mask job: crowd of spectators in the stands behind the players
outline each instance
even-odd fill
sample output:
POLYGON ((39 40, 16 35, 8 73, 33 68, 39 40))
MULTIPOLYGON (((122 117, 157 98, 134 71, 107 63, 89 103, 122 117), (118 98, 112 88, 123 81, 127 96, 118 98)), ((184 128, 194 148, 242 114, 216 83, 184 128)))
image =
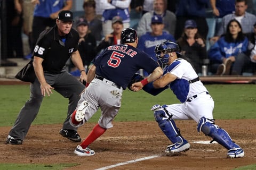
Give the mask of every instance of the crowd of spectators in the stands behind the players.
MULTIPOLYGON (((6 1, 8 57, 30 59, 39 34, 55 25, 58 12, 71 10, 73 3, 73 0, 6 1), (31 52, 26 55, 22 33, 29 40, 31 52)), ((85 70, 103 49, 120 43, 121 31, 129 28, 133 21, 132 11, 139 19, 134 28, 139 37, 138 48, 154 60, 157 60, 155 45, 171 40, 180 46, 180 52, 198 75, 202 75, 203 65, 208 66, 211 75, 255 75, 256 10, 253 4, 256 0, 84 0, 84 14, 76 16, 73 27, 80 36, 79 52, 85 70), (210 38, 206 20, 209 17, 214 18, 210 38)), ((72 63, 69 70, 79 76, 72 63)))

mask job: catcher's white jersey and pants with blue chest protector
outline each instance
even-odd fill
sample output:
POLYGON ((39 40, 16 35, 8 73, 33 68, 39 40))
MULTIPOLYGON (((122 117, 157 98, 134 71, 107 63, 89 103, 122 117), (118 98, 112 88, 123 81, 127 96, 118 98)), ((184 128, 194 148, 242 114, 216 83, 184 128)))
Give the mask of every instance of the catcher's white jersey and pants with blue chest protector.
POLYGON ((202 116, 213 118, 214 101, 190 63, 178 58, 164 68, 164 74, 177 77, 169 87, 181 104, 168 105, 166 108, 173 119, 193 119, 198 122, 202 116))

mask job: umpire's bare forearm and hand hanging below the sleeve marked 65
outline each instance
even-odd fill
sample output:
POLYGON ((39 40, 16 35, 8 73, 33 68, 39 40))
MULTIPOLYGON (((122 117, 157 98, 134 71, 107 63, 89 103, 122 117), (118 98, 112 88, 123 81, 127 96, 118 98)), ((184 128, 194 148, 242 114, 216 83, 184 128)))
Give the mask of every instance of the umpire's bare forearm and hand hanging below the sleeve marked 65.
POLYGON ((48 84, 44 78, 44 70, 43 70, 42 62, 43 62, 43 58, 34 56, 33 66, 36 73, 36 77, 41 84, 40 86, 41 94, 43 96, 45 96, 45 94, 50 96, 50 94, 52 94, 51 89, 54 89, 54 88, 51 87, 50 84, 48 84))

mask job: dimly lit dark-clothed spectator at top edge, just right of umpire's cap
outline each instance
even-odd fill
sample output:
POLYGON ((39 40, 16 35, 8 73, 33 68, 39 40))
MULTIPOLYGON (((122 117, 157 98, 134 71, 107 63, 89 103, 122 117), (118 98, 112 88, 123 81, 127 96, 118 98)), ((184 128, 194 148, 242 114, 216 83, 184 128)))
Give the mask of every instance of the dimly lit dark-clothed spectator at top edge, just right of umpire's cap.
POLYGON ((78 18, 83 17, 87 21, 91 34, 95 37, 96 41, 100 41, 102 39, 102 22, 97 18, 95 5, 94 0, 85 0, 83 4, 84 15, 78 18))

